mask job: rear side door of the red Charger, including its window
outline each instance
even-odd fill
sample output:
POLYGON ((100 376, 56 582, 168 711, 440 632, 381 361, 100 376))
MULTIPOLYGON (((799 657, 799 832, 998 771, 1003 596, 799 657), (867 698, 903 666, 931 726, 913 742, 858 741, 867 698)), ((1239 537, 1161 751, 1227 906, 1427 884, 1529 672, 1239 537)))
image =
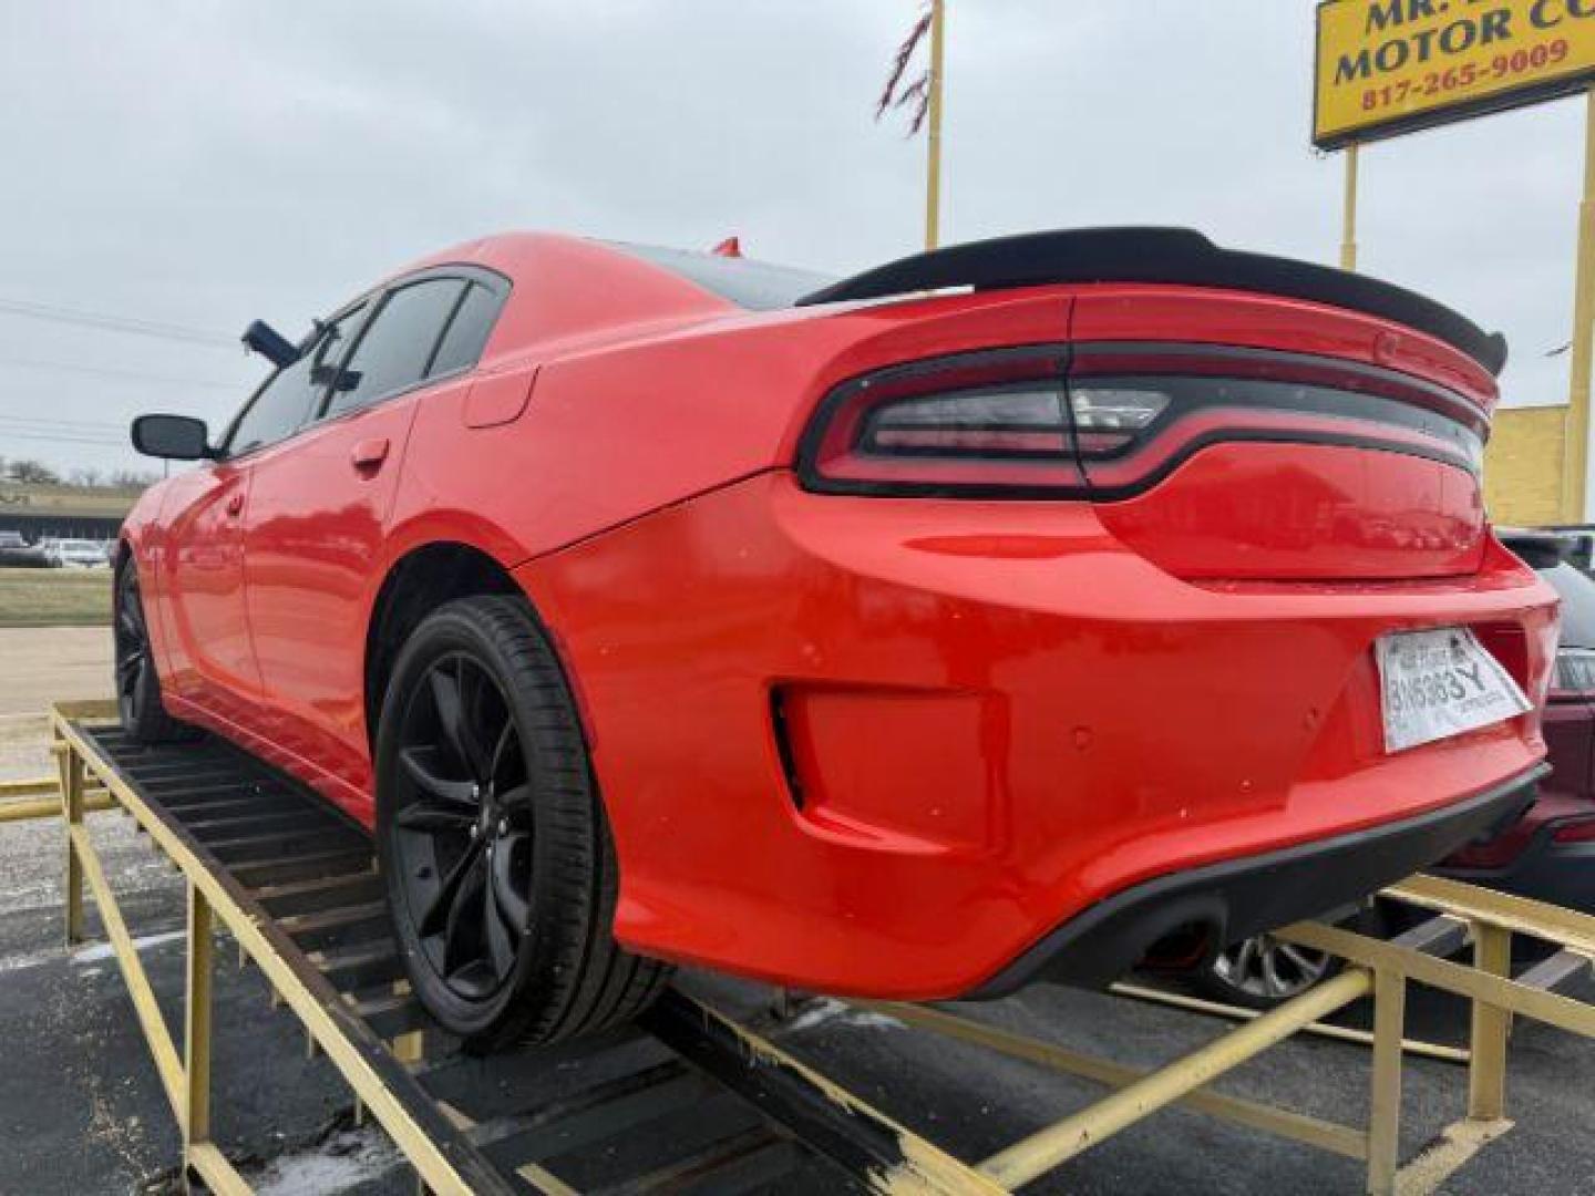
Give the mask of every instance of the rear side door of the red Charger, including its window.
POLYGON ((439 271, 388 287, 319 418, 250 482, 244 558, 270 734, 354 813, 370 791, 365 611, 416 403, 464 384, 448 380, 469 365, 443 360, 440 341, 467 287, 439 271))

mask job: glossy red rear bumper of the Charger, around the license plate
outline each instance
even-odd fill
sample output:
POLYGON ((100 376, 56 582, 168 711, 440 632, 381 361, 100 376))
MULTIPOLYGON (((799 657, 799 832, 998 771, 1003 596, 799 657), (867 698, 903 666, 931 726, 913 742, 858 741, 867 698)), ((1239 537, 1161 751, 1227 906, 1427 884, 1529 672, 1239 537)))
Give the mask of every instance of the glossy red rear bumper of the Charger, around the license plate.
MULTIPOLYGON (((1389 631, 1474 627, 1544 690, 1555 595, 1501 549, 1420 584, 1195 585, 1089 504, 770 474, 517 579, 587 719, 616 936, 817 992, 960 997, 1120 893, 1443 818, 1544 756, 1534 716, 1381 740, 1389 631)), ((1309 898, 1274 923, 1337 903, 1309 898)))

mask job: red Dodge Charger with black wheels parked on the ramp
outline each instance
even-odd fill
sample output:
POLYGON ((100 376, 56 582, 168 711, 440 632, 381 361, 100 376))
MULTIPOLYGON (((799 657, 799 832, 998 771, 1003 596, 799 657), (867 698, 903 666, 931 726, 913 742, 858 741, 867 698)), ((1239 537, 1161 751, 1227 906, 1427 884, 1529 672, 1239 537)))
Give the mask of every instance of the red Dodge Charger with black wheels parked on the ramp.
POLYGON ((1101 984, 1514 816, 1555 595, 1480 461, 1506 346, 1155 228, 847 281, 510 234, 364 292, 118 553, 131 734, 375 831, 419 997, 600 1030, 670 962, 1101 984))

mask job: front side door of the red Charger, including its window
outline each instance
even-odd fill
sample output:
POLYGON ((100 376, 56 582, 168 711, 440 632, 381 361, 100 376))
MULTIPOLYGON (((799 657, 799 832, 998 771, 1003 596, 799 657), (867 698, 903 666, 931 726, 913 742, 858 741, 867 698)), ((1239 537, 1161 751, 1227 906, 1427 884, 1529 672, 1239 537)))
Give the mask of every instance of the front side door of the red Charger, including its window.
POLYGON ((311 418, 327 384, 317 370, 338 336, 340 327, 330 325, 311 351, 266 380, 223 435, 217 461, 167 483, 160 565, 167 692, 246 729, 260 705, 244 598, 250 477, 262 453, 278 450, 311 418))

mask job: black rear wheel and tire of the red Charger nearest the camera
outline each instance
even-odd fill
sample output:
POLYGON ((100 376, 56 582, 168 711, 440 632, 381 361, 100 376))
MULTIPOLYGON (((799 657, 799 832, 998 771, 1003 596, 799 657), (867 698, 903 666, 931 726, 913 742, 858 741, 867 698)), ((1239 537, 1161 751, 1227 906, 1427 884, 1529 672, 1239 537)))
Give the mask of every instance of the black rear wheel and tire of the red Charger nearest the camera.
POLYGON ((670 978, 611 936, 608 820, 525 601, 448 603, 400 649, 378 719, 376 842, 412 989, 469 1051, 601 1033, 670 978))

